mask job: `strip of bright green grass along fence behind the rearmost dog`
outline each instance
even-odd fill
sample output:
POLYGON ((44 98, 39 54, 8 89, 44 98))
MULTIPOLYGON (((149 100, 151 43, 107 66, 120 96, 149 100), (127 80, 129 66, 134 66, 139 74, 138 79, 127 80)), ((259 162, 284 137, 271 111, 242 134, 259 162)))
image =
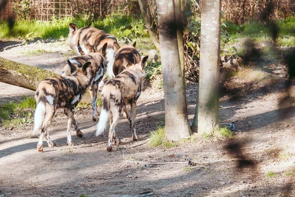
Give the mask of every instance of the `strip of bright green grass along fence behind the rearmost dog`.
MULTIPOLYGON (((10 31, 6 21, 0 22, 0 39, 61 39, 67 38, 69 34, 69 24, 75 23, 78 28, 83 28, 91 23, 91 26, 108 33, 114 34, 117 38, 131 40, 135 37, 147 37, 144 31, 144 21, 132 16, 107 16, 95 21, 90 21, 86 16, 76 18, 65 17, 62 19, 52 18, 50 22, 42 21, 16 21, 15 26, 10 31)), ((129 40, 129 41, 131 41, 129 40)))

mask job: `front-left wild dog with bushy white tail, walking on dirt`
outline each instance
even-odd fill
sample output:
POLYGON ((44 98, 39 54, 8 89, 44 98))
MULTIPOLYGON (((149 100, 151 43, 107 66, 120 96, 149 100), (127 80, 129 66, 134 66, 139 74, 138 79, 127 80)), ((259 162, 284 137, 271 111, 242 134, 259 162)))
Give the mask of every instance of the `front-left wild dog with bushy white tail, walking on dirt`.
MULTIPOLYGON (((71 69, 76 69, 68 61, 71 69)), ((71 131, 74 127, 77 136, 82 137, 83 132, 78 128, 77 121, 74 119, 75 106, 79 103, 90 82, 91 63, 86 63, 81 69, 77 69, 69 76, 52 77, 42 80, 35 92, 37 107, 34 115, 34 131, 41 127, 37 149, 43 152, 43 137, 47 140, 48 146, 56 146, 49 137, 48 126, 57 108, 63 107, 64 113, 68 117, 67 123, 67 144, 74 145, 72 142, 71 131), (45 118, 44 115, 46 114, 45 118)))

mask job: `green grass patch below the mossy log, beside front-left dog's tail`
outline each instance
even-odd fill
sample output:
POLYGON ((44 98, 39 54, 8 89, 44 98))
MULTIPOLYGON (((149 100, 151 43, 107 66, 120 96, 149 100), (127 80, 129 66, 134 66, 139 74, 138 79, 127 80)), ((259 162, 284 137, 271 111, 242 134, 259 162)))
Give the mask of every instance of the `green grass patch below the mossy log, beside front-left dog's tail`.
POLYGON ((24 97, 20 102, 7 102, 0 105, 0 126, 23 128, 33 123, 33 111, 36 101, 33 97, 24 97))

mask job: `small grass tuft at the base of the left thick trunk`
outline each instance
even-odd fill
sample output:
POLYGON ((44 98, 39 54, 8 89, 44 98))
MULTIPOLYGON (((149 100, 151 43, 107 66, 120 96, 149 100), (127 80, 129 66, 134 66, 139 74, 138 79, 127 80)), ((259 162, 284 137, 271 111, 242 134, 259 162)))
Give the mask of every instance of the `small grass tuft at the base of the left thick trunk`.
POLYGON ((174 143, 165 139, 165 131, 163 127, 159 127, 156 131, 151 131, 149 138, 150 140, 148 143, 150 146, 160 146, 165 148, 172 148, 175 146, 174 143))

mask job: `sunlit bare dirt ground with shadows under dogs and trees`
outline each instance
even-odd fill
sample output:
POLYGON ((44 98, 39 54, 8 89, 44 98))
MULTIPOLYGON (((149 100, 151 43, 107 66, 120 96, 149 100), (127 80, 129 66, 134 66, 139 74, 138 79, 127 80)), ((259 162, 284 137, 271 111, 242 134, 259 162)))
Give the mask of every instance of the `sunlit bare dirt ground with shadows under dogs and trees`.
MULTIPOLYGON (((38 56, 20 51, 48 48, 52 42, 16 44, 1 43, 6 50, 0 50, 0 56, 58 73, 71 55, 64 43, 55 43, 62 46, 59 51, 38 56)), ((113 152, 106 151, 107 132, 95 137, 90 109, 75 114, 84 136, 72 133, 72 147, 65 145, 66 116, 61 110, 49 127, 57 147, 44 141, 43 153, 36 149, 38 133, 31 126, 0 128, 0 197, 295 197, 294 82, 291 98, 279 104, 286 94, 286 66, 267 68, 257 66, 257 76, 268 77, 261 81, 244 76, 226 82, 232 89, 220 98, 220 123, 236 123, 234 139, 204 140, 194 133, 174 148, 148 146, 150 131, 165 121, 163 91, 150 87, 138 100, 140 140, 132 141, 129 124, 121 119, 117 134, 122 143, 113 152), (231 91, 237 96, 227 96, 231 91), (189 160, 193 166, 186 166, 189 160)), ((22 95, 33 92, 0 83, 0 103, 22 95)), ((197 85, 188 83, 190 121, 196 95, 197 85)))

